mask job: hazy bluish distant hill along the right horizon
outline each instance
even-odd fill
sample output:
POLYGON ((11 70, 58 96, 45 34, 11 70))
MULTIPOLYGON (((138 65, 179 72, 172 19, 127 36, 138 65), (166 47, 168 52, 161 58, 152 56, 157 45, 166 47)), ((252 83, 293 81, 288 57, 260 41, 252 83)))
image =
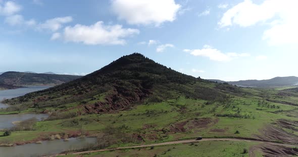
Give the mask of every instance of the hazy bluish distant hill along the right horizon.
MULTIPOLYGON (((225 83, 221 80, 209 80, 218 83, 225 83)), ((226 82, 231 85, 237 86, 249 86, 249 87, 280 87, 280 86, 294 86, 298 85, 298 77, 287 76, 287 77, 274 77, 269 80, 241 80, 234 82, 226 82)))

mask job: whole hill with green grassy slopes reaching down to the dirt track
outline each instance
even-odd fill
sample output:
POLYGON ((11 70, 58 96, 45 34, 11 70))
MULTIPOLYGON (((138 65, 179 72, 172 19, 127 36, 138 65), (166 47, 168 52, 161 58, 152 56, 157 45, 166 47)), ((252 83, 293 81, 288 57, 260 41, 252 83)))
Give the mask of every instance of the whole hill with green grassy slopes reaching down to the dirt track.
MULTIPOLYGON (((78 80, 6 100, 4 103, 13 107, 0 113, 38 112, 50 116, 46 121, 37 122, 32 130, 12 132, 13 138, 0 137, 0 143, 21 143, 23 137, 34 142, 60 134, 62 137, 96 136, 97 149, 197 136, 298 144, 297 101, 295 90, 217 84, 182 74, 134 53, 78 80)), ((227 143, 216 144, 223 151, 227 143)), ((226 154, 247 156, 243 148, 256 145, 239 143, 232 143, 226 154)), ((185 146, 177 147, 184 149, 185 146)), ((152 153, 163 153, 164 149, 155 149, 152 153)), ((186 146, 185 149, 193 148, 186 146)), ((219 152, 210 151, 210 155, 216 153, 219 152)))

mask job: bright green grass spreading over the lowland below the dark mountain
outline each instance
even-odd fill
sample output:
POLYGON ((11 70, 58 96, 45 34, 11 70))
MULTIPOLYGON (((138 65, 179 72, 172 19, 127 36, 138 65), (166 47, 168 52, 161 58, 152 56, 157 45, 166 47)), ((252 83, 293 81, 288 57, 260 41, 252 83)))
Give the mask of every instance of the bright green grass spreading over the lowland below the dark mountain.
MULTIPOLYGON (((213 84, 200 84, 206 88, 214 88, 213 84)), ((72 118, 40 121, 36 123, 34 131, 12 132, 11 136, 0 137, 0 143, 22 143, 49 134, 73 134, 82 130, 88 135, 97 136, 105 133, 108 127, 120 128, 122 133, 135 135, 142 139, 138 142, 121 142, 110 145, 110 148, 190 139, 197 136, 254 138, 257 134, 261 134, 260 130, 267 125, 272 125, 278 119, 297 121, 298 107, 280 103, 296 104, 298 97, 295 95, 281 96, 279 95, 280 91, 272 89, 242 90, 244 94, 235 94, 225 102, 187 98, 179 96, 179 93, 175 91, 168 91, 168 93, 177 97, 174 97, 175 99, 169 97, 157 103, 144 101, 142 104, 133 105, 124 111, 101 114, 82 113, 72 118), (276 102, 271 100, 276 100, 276 102), (208 119, 210 122, 203 125, 200 123, 202 119, 208 119), (194 122, 197 122, 197 124, 194 122), (180 124, 183 125, 179 126, 180 124), (182 128, 184 130, 181 130, 182 128), (235 134, 236 131, 239 133, 235 134)), ((220 91, 220 93, 227 94, 225 92, 220 91)), ((103 100, 104 95, 96 95, 94 98, 88 98, 84 101, 103 100)), ((227 95, 230 95, 230 93, 227 95)), ((28 108, 21 113, 40 112, 41 110, 51 112, 66 110, 64 113, 76 113, 82 111, 83 106, 80 102, 75 102, 64 104, 59 108, 28 108)), ((0 114, 8 114, 8 112, 0 112, 0 114)), ((298 135, 297 131, 284 130, 298 135)), ((222 154, 222 156, 247 156, 247 154, 241 154, 240 151, 243 148, 248 149, 252 144, 255 143, 210 141, 200 142, 198 146, 179 144, 155 147, 153 150, 148 148, 142 148, 141 151, 127 149, 98 152, 86 154, 85 156, 130 156, 131 154, 137 154, 136 156, 145 156, 147 154, 150 154, 149 156, 155 154, 159 156, 214 156, 215 154, 215 156, 218 156, 218 154, 222 154), (175 149, 172 147, 175 147, 175 149), (168 149, 171 150, 167 151, 168 149)), ((260 155, 258 152, 256 154, 260 155)))

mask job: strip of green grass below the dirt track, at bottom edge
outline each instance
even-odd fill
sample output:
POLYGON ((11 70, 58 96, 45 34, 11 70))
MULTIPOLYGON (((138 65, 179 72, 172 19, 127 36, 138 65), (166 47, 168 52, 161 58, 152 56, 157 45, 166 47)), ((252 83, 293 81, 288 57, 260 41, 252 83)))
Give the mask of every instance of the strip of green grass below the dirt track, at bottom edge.
MULTIPOLYGON (((124 149, 115 151, 82 154, 83 157, 101 156, 249 156, 243 149, 249 149, 257 142, 202 141, 198 143, 175 144, 147 148, 124 149)), ((76 155, 66 155, 68 157, 76 155)))

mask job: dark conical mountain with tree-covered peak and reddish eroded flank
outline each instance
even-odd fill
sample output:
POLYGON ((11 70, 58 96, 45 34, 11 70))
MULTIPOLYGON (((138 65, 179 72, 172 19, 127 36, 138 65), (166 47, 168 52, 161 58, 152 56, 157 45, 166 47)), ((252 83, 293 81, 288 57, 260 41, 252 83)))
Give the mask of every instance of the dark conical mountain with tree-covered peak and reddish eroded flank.
POLYGON ((127 109, 140 102, 159 102, 181 94, 206 100, 224 96, 213 88, 202 86, 200 82, 214 84, 172 70, 142 54, 133 53, 75 81, 6 103, 39 108, 79 107, 82 112, 98 113, 127 109))

